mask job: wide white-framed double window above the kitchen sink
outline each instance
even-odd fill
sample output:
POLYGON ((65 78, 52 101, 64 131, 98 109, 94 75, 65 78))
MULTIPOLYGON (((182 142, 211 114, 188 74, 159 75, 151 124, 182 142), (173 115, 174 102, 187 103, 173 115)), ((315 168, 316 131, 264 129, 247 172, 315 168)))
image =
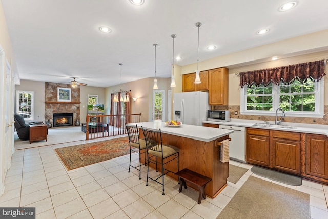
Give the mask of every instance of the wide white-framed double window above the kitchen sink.
POLYGON ((323 116, 323 80, 305 83, 295 80, 286 85, 243 87, 240 106, 242 114, 272 115, 280 107, 287 115, 296 117, 323 116))

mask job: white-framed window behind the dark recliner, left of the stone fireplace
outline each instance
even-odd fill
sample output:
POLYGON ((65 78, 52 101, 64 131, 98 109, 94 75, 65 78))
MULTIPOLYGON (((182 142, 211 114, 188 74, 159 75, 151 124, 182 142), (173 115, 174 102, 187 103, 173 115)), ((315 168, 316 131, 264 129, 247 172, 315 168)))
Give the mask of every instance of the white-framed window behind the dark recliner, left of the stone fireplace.
POLYGON ((17 104, 16 104, 16 113, 33 120, 33 97, 34 91, 20 91, 17 90, 17 104))

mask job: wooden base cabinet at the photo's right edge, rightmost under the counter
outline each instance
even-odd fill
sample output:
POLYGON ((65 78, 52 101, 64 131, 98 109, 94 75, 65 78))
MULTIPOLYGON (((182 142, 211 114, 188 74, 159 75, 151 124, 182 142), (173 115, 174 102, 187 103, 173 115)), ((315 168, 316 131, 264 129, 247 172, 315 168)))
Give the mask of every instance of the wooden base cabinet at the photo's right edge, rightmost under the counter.
POLYGON ((306 175, 328 179, 328 137, 306 134, 306 175))

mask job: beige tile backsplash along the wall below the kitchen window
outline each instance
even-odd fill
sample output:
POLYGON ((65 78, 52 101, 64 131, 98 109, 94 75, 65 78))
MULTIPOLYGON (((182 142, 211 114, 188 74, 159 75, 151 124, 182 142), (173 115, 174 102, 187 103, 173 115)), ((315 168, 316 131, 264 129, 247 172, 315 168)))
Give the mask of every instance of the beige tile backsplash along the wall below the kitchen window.
MULTIPOLYGON (((231 118, 239 118, 242 120, 260 120, 260 121, 275 121, 275 116, 263 116, 263 115, 240 115, 240 106, 213 106, 213 110, 229 110, 231 118), (235 111, 238 111, 238 115, 235 115, 235 111)), ((281 113, 279 113, 281 114, 281 113)), ((289 117, 282 118, 283 122, 288 123, 309 123, 328 125, 328 106, 324 106, 323 118, 311 118, 311 117, 289 117)))

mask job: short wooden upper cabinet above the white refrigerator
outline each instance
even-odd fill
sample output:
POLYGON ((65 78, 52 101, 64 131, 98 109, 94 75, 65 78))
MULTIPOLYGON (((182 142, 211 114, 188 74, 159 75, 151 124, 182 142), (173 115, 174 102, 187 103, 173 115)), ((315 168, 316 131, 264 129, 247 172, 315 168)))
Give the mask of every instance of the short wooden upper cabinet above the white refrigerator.
POLYGON ((199 72, 201 83, 195 84, 196 73, 182 75, 182 92, 208 91, 209 90, 209 71, 199 72))

